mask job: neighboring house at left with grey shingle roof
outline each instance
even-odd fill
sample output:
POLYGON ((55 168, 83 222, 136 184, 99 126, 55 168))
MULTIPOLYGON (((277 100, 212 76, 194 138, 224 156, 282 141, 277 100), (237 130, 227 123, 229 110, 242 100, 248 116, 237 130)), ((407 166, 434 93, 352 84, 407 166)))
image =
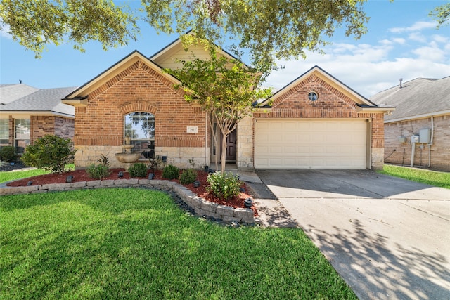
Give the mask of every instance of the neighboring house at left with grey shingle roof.
POLYGON ((61 103, 61 98, 75 89, 1 84, 0 146, 13 145, 22 154, 27 145, 46 134, 73 138, 75 110, 61 103))

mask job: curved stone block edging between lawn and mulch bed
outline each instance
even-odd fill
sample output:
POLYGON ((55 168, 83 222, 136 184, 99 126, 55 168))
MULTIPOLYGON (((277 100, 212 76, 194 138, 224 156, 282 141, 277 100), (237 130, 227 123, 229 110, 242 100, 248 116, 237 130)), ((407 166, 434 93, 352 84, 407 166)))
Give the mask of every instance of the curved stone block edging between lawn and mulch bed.
POLYGON ((20 195, 32 193, 48 193, 61 192, 66 190, 79 190, 89 188, 129 188, 129 187, 147 187, 147 188, 168 188, 179 195, 181 200, 189 207, 194 209, 195 214, 200 216, 210 216, 215 219, 223 221, 236 221, 244 223, 255 223, 255 216, 253 216, 252 209, 243 209, 229 207, 226 205, 209 202, 202 197, 198 197, 183 185, 174 181, 160 181, 149 179, 110 179, 110 180, 96 180, 96 181, 79 181, 75 183, 51 183, 44 185, 29 185, 19 187, 5 187, 0 188, 0 196, 3 195, 20 195))

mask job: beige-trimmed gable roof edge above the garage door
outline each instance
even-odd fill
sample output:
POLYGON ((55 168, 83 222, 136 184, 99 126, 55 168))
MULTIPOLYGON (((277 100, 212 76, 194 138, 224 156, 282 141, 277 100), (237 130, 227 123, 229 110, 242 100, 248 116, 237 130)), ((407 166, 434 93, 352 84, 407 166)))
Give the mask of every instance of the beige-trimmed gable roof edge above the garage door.
POLYGON ((361 110, 383 110, 383 111, 391 111, 394 110, 395 107, 388 107, 388 106, 379 106, 373 103, 371 100, 368 100, 364 96, 361 96, 360 93, 357 93, 353 89, 351 89, 349 86, 343 84, 340 80, 333 77, 333 75, 329 74, 325 70, 323 70, 318 65, 315 65, 314 67, 311 67, 307 72, 304 72, 304 74, 300 75, 293 81, 291 81, 289 84, 284 86, 282 89, 276 91, 274 95, 270 96, 266 100, 264 100, 261 105, 268 105, 270 101, 274 101, 277 98, 283 96, 285 93, 290 91, 294 86, 297 86, 297 84, 300 84, 301 81, 304 79, 307 79, 307 77, 310 77, 311 75, 316 75, 323 81, 326 81, 327 84, 330 84, 330 86, 333 86, 335 89, 338 89, 341 93, 345 94, 352 100, 356 102, 356 105, 358 105, 359 111, 361 110))

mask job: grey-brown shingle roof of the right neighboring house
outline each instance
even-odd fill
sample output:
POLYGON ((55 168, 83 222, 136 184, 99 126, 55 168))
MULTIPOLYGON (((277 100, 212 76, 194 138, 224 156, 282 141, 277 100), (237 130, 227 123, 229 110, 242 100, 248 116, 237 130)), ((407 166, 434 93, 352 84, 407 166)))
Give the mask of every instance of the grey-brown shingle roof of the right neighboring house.
POLYGON ((378 104, 394 105, 397 110, 385 122, 450 114, 450 76, 442 79, 416 78, 393 86, 371 97, 378 104))

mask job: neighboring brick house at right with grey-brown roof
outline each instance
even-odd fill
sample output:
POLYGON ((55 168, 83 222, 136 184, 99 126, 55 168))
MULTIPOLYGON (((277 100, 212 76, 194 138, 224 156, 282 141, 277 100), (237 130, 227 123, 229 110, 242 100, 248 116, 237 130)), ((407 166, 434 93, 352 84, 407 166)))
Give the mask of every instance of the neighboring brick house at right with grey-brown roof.
POLYGON ((450 171, 450 77, 400 82, 371 100, 397 107, 385 116, 385 162, 450 171))

